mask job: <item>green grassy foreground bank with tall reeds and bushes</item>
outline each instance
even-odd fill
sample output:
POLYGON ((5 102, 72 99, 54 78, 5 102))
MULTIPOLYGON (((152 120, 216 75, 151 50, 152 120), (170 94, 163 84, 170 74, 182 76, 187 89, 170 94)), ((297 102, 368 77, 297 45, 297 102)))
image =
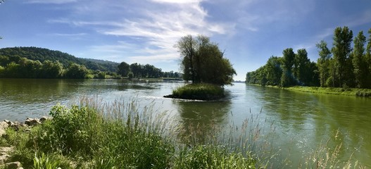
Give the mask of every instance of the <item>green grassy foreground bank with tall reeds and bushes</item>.
MULTIPOLYGON (((135 101, 101 104, 85 99, 54 106, 42 125, 8 128, 1 146, 13 146, 11 161, 24 168, 259 168, 248 152, 203 142, 182 144, 166 115, 135 101)), ((187 136, 186 136, 187 137, 187 136)))

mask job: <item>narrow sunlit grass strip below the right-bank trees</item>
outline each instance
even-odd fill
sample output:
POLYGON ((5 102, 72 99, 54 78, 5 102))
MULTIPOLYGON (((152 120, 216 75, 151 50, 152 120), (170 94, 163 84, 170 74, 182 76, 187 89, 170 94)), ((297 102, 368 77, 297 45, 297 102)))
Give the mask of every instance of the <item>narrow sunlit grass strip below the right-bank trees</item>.
POLYGON ((334 87, 287 87, 284 89, 289 89, 293 91, 300 92, 310 92, 318 94, 338 94, 346 96, 371 96, 371 89, 356 89, 356 88, 334 88, 334 87))

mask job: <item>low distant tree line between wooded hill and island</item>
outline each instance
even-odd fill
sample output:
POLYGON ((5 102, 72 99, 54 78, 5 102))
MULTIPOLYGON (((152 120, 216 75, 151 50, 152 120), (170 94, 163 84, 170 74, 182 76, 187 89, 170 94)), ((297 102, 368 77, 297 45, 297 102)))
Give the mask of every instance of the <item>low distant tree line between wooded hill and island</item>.
POLYGON ((174 71, 163 72, 161 68, 156 68, 154 65, 146 64, 141 65, 139 63, 128 64, 122 62, 118 65, 118 74, 122 77, 135 77, 135 78, 181 78, 182 75, 174 71))

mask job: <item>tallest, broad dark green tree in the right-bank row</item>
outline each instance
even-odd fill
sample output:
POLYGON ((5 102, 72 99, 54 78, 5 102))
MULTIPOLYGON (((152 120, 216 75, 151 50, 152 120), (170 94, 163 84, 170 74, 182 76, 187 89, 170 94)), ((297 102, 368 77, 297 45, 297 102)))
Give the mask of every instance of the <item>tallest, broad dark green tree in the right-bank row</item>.
POLYGON ((334 54, 335 68, 337 70, 337 78, 339 80, 339 87, 344 87, 351 82, 351 42, 353 40, 353 32, 348 27, 337 27, 334 30, 334 42, 332 47, 332 54, 334 54))

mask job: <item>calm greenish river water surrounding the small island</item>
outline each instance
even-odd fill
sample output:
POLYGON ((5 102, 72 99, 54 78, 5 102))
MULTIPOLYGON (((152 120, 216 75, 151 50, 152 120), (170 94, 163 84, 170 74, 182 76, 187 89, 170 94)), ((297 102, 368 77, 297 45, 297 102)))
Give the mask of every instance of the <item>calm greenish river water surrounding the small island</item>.
MULTIPOLYGON (((52 106, 74 104, 82 96, 106 102, 134 99, 141 105, 153 104, 156 111, 170 113, 184 126, 213 123, 230 127, 255 118, 262 128, 260 134, 270 136, 272 150, 279 161, 286 159, 282 165, 287 168, 298 168, 298 163, 304 163, 321 142, 327 143, 328 148, 341 144, 337 155, 341 161, 352 156, 371 167, 369 98, 291 92, 241 83, 225 87, 227 98, 221 101, 163 98, 182 85, 183 82, 162 81, 0 79, 0 119, 24 121, 27 117, 47 115, 52 106)), ((202 130, 213 132, 211 127, 202 130)))

